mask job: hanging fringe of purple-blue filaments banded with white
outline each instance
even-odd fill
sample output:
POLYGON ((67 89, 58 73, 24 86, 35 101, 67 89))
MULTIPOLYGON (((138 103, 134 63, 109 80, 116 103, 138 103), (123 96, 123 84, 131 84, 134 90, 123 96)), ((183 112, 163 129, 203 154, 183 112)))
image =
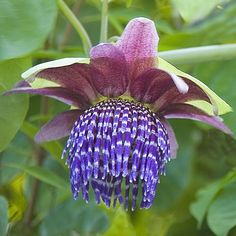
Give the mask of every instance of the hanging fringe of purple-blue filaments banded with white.
POLYGON ((63 156, 67 155, 74 198, 82 192, 89 200, 91 184, 95 200, 128 209, 149 208, 159 175, 170 159, 166 129, 157 116, 141 104, 110 99, 100 102, 75 122, 63 156))

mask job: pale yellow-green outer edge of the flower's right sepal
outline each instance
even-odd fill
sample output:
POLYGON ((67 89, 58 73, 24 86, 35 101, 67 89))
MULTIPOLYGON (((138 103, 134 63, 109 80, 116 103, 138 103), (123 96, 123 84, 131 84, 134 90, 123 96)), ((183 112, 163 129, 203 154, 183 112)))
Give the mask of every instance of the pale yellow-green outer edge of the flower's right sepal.
POLYGON ((158 63, 159 63, 158 67, 160 69, 166 70, 178 76, 183 76, 189 80, 192 80, 194 83, 196 83, 200 88, 202 88, 209 95, 213 103, 213 110, 210 105, 207 105, 207 103, 204 103, 204 102, 192 103, 191 102, 196 107, 199 107, 200 109, 204 109, 209 114, 212 114, 213 112, 213 113, 222 115, 222 114, 232 111, 231 107, 224 100, 222 100, 217 94, 215 94, 210 88, 208 88, 200 80, 194 78, 193 76, 187 73, 184 73, 181 70, 178 70, 176 67, 172 66, 171 64, 161 59, 160 57, 158 58, 158 63))

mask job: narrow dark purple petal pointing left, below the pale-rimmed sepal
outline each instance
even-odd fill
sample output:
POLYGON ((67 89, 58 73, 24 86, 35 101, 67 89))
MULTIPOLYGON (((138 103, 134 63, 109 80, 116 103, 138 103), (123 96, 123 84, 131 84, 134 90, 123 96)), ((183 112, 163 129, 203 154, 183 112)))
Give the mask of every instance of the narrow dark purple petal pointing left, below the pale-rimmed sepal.
POLYGON ((84 101, 84 98, 82 96, 63 87, 48 87, 39 89, 34 89, 31 87, 17 87, 8 91, 7 93, 5 93, 5 95, 10 95, 13 93, 29 93, 43 95, 64 102, 70 106, 76 106, 80 108, 87 108, 90 105, 86 101, 84 101))

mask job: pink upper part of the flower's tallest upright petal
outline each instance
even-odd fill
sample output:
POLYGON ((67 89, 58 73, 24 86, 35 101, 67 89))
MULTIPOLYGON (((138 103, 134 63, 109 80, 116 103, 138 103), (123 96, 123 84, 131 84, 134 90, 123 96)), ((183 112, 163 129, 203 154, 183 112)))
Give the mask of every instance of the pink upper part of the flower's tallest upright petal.
POLYGON ((127 61, 133 61, 157 57, 158 41, 154 22, 138 17, 127 24, 117 46, 124 53, 127 61))

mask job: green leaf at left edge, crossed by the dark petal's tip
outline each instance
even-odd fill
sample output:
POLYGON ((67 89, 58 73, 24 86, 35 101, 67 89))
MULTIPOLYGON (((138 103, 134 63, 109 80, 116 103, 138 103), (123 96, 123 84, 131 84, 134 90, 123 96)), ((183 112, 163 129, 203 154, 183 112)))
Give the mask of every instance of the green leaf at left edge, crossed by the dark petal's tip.
MULTIPOLYGON (((12 59, 0 63, 0 85, 9 90, 20 79, 20 74, 31 65, 29 58, 12 59)), ((1 89, 1 90, 3 90, 1 89)), ((27 95, 0 95, 0 152, 5 149, 21 127, 28 110, 27 95)))

